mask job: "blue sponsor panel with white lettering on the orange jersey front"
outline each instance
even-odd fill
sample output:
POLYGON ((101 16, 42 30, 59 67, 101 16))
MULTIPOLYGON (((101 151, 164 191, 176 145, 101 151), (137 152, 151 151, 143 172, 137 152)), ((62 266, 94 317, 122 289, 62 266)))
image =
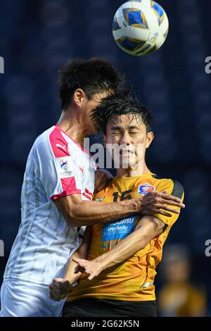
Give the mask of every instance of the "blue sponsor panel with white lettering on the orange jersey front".
POLYGON ((106 242, 124 239, 132 233, 136 224, 136 218, 137 216, 133 215, 127 218, 122 218, 122 220, 109 222, 108 224, 103 225, 102 247, 109 246, 106 242))

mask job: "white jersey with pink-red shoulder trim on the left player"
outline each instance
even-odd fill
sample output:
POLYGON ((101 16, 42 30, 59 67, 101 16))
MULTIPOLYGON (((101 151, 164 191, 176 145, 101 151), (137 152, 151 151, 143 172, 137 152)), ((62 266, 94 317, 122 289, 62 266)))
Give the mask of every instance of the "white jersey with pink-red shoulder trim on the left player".
POLYGON ((50 284, 63 277, 68 258, 80 244, 76 227, 68 227, 53 201, 81 194, 91 200, 95 164, 58 125, 42 133, 27 159, 21 193, 22 216, 4 280, 50 284))

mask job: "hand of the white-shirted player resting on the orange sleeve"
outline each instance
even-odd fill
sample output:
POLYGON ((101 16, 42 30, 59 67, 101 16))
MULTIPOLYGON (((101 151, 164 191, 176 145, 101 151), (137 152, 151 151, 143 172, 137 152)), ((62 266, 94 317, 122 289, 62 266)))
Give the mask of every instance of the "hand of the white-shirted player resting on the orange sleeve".
POLYGON ((179 208, 184 208, 185 205, 181 203, 181 199, 176 196, 167 194, 167 192, 149 192, 143 198, 141 198, 141 213, 143 215, 155 215, 161 214, 167 217, 172 217, 170 213, 177 213, 179 211, 170 207, 177 206, 179 208))

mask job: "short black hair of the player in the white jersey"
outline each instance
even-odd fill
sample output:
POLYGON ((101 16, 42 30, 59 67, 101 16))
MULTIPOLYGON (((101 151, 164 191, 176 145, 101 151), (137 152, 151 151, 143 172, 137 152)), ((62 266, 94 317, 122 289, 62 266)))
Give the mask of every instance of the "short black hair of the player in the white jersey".
POLYGON ((113 65, 101 58, 90 60, 69 60, 58 70, 61 107, 66 110, 70 106, 76 89, 82 89, 91 99, 96 93, 116 92, 122 89, 124 77, 113 65))

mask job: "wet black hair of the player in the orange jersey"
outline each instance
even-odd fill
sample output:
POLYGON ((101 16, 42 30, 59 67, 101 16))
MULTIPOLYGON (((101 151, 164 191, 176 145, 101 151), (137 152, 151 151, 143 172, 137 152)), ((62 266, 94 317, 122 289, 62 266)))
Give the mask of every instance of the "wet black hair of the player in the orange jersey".
POLYGON ((91 117, 106 135, 106 125, 120 115, 134 115, 146 125, 146 132, 151 132, 152 115, 134 95, 118 93, 103 98, 94 108, 91 117))

